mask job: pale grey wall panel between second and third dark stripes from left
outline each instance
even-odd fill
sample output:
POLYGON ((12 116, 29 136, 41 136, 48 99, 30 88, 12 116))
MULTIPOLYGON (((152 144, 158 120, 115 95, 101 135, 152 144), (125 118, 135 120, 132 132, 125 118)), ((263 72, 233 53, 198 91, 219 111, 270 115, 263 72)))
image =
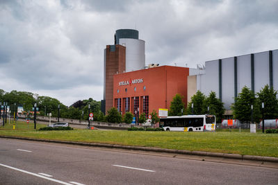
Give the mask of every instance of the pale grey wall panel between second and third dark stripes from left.
POLYGON ((241 55, 237 59, 238 94, 246 85, 251 89, 251 55, 241 55))

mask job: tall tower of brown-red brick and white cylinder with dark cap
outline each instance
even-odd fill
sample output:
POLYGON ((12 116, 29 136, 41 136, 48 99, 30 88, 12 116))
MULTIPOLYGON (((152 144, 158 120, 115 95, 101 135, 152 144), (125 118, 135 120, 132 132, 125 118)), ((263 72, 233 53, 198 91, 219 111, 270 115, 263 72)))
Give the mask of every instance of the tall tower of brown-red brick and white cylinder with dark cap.
POLYGON ((114 39, 114 45, 104 49, 104 114, 113 107, 113 75, 145 68, 145 41, 139 39, 138 30, 116 30, 114 39))

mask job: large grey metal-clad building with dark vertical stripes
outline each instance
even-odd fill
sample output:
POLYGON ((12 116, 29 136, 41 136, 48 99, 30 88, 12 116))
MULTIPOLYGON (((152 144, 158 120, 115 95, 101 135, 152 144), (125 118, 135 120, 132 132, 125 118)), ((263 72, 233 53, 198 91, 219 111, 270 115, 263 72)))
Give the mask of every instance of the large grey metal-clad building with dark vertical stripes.
POLYGON ((278 90, 278 50, 207 61, 188 78, 188 100, 196 91, 215 91, 229 110, 244 86, 259 92, 265 85, 278 90), (191 88, 191 89, 190 89, 191 88))

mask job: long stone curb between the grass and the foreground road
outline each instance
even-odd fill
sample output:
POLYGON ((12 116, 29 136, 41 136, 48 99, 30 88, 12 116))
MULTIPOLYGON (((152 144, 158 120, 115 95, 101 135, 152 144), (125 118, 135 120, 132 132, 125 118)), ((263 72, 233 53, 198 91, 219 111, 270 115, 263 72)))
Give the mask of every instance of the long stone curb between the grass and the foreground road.
POLYGON ((105 147, 105 148, 120 148, 126 150, 143 150, 149 152, 167 152, 173 154, 181 155, 198 155, 204 157, 222 157, 227 159, 240 159, 240 160, 252 160, 252 161, 268 161, 278 163, 278 157, 263 157, 263 156, 254 156, 254 155, 237 155, 237 154, 225 154, 225 153, 215 153, 215 152, 202 152, 202 151, 190 151, 190 150, 174 150, 174 149, 165 149, 165 148, 151 148, 143 146, 121 146, 105 143, 85 143, 77 141, 58 141, 51 139, 32 139, 28 137, 19 137, 19 136, 0 136, 0 138, 6 139, 22 139, 28 141, 42 141, 49 143, 63 143, 63 144, 72 144, 80 146, 96 146, 96 147, 105 147))

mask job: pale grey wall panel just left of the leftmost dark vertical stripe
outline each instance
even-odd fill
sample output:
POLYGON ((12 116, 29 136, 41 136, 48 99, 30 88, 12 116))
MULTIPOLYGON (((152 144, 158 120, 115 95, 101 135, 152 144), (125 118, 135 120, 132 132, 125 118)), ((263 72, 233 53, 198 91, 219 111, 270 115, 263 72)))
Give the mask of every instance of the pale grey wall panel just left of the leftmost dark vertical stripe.
POLYGON ((218 60, 206 62, 206 78, 204 80, 204 91, 202 91, 206 96, 208 96, 211 91, 215 91, 216 96, 219 98, 218 68, 218 60))

